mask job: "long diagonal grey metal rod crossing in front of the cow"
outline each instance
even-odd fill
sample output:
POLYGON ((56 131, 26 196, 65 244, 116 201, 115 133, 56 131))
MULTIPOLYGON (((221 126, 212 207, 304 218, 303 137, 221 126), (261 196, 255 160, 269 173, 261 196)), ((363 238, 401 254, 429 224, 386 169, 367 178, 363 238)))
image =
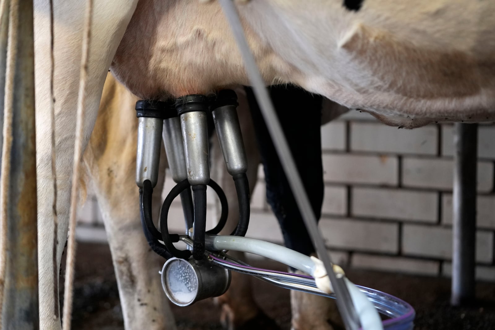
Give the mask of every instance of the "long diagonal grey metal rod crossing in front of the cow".
POLYGON ((237 13, 237 9, 232 0, 220 0, 220 4, 227 20, 229 21, 229 25, 237 42, 237 46, 242 54, 254 95, 259 103, 268 132, 270 133, 273 144, 276 147, 291 189, 294 192, 294 197, 296 198, 297 206, 301 212, 302 220, 304 220, 304 224, 306 225, 309 236, 313 241, 318 257, 323 262, 323 265, 327 270, 335 293, 339 297, 339 299, 337 299, 337 307, 339 308, 339 312, 342 316, 346 329, 357 330, 360 328, 360 322, 352 304, 352 299, 347 290, 344 278, 337 277, 333 271, 330 255, 327 252, 323 238, 318 230, 316 217, 311 208, 308 196, 305 193, 302 180, 297 171, 296 163, 292 158, 289 145, 285 139, 284 132, 275 113, 275 109, 268 95, 268 91, 265 88, 266 84, 259 73, 254 57, 249 46, 247 45, 246 36, 237 13))

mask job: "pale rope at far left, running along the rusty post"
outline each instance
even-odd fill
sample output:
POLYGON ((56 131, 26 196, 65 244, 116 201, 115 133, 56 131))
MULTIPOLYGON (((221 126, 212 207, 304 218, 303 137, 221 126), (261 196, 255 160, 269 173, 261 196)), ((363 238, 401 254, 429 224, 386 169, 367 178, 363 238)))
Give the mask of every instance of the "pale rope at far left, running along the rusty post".
MULTIPOLYGON (((6 10, 7 1, 2 2, 2 10, 6 10)), ((14 76, 17 57, 17 27, 19 20, 18 0, 10 0, 8 21, 7 61, 5 70, 5 98, 3 102, 3 146, 1 155, 0 179, 0 329, 2 328, 1 311, 5 288, 5 267, 7 262, 7 205, 10 174, 10 156, 12 151, 12 107, 14 103, 14 76)))

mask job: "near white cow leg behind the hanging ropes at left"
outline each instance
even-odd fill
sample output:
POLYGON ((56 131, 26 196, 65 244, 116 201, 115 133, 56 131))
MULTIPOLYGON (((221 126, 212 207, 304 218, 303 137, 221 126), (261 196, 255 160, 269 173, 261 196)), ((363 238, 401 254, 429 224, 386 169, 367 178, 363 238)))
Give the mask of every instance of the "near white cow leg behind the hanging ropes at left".
MULTIPOLYGON (((137 0, 94 0, 86 83, 83 146, 96 121, 108 67, 134 12, 137 0)), ((54 0, 54 98, 58 214, 54 237, 52 218, 50 121, 50 7, 34 1, 35 83, 38 185, 38 265, 40 329, 60 329, 58 273, 67 239, 76 109, 86 1, 54 0), (54 248, 54 244, 56 245, 54 248), (53 251, 55 252, 55 256, 53 251), (55 261, 53 260, 55 259, 55 261), (56 267, 53 267, 53 262, 56 267)), ((77 183, 75 183, 77 184, 77 183)))

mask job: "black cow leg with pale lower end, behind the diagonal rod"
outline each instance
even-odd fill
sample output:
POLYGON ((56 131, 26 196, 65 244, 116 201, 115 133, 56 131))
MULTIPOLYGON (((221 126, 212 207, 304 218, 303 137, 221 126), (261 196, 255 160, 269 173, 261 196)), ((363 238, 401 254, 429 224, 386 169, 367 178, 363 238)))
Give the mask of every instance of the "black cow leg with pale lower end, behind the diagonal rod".
MULTIPOLYGON (((322 99, 291 86, 271 87, 270 93, 313 212, 319 219, 324 191, 320 137, 322 99), (302 109, 304 112, 301 112, 302 109)), ((268 203, 279 221, 285 245, 310 255, 314 253, 314 247, 253 96, 248 90, 256 139, 265 170, 268 203)), ((332 329, 328 319, 335 310, 335 304, 331 299, 291 291, 291 307, 293 330, 332 329)))

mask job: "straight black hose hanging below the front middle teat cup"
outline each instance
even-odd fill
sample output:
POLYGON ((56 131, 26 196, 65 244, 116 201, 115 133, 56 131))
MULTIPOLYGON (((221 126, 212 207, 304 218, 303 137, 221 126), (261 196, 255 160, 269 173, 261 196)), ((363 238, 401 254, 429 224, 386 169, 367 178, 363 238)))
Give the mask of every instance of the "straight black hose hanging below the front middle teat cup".
POLYGON ((193 258, 201 260, 204 254, 204 237, 206 233, 206 185, 193 186, 193 198, 193 258))

